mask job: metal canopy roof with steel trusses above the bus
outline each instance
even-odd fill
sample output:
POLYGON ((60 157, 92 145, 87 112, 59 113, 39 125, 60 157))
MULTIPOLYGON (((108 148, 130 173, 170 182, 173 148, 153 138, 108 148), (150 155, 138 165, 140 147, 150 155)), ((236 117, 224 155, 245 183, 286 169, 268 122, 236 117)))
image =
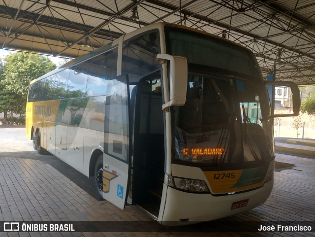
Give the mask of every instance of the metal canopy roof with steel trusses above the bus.
POLYGON ((158 21, 250 48, 264 77, 315 84, 314 0, 1 0, 0 45, 75 58, 158 21))

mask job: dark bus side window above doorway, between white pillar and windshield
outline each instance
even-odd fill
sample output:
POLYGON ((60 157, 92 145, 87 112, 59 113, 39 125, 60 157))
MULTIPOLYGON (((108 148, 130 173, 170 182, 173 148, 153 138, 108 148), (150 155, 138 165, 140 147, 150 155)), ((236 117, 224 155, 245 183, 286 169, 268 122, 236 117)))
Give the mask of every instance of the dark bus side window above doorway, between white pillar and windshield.
POLYGON ((128 74, 129 82, 160 69, 157 54, 160 53, 158 30, 146 32, 128 39, 123 45, 122 74, 128 74))

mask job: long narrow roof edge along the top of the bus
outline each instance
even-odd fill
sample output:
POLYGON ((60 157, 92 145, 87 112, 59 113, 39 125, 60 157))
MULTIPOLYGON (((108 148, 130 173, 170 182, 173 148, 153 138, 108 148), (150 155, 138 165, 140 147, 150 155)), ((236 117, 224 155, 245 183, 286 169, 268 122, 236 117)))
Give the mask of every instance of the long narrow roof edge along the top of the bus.
POLYGON ((62 66, 60 66, 60 67, 58 67, 58 68, 56 68, 56 69, 46 73, 45 75, 42 75, 41 77, 38 77, 38 78, 32 80, 31 83, 33 83, 35 81, 38 81, 38 80, 41 80, 43 78, 46 78, 47 76, 53 75, 53 74, 55 74, 55 73, 57 73, 59 71, 62 71, 64 69, 66 69, 66 68, 70 68, 72 66, 75 66, 75 65, 77 65, 77 64, 79 64, 81 62, 84 62, 84 61, 86 61, 86 60, 88 60, 90 58, 93 58, 93 57, 95 57, 95 56, 97 56, 99 54, 102 54, 102 53, 110 50, 111 48, 116 47, 117 41, 119 41, 122 37, 126 37, 129 34, 141 34, 142 32, 148 31, 150 29, 160 28, 160 27, 165 27, 165 26, 167 26, 167 27, 175 27, 175 28, 180 28, 180 29, 186 29, 186 30, 189 30, 189 31, 192 31, 192 32, 196 32, 196 33, 199 33, 199 34, 208 35, 208 36, 211 36, 211 37, 214 37, 214 38, 218 38, 220 40, 224 40, 224 41, 229 42, 231 44, 238 45, 239 47, 242 47, 242 48, 244 48, 244 49, 246 49, 248 51, 251 51, 248 48, 244 47, 243 45, 235 43, 235 42, 233 42, 231 40, 228 40, 226 38, 222 38, 222 37, 217 36, 215 34, 210 34, 210 33, 207 33, 207 32, 204 32, 204 31, 200 31, 200 30, 197 30, 197 29, 193 29, 193 28, 190 28, 190 27, 186 27, 186 26, 183 26, 183 25, 167 23, 167 22, 158 22, 158 23, 155 23, 155 24, 152 24, 152 25, 145 26, 145 27, 142 27, 140 29, 137 29, 137 30, 135 30, 135 31, 133 31, 131 33, 124 34, 121 37, 119 37, 118 39, 115 39, 114 41, 112 41, 111 43, 106 44, 106 45, 104 45, 102 47, 99 47, 98 49, 95 49, 94 51, 91 51, 91 52, 89 52, 89 53, 87 53, 85 55, 82 55, 82 56, 78 57, 78 58, 75 58, 75 59, 71 60, 70 62, 67 62, 67 63, 63 64, 62 66))

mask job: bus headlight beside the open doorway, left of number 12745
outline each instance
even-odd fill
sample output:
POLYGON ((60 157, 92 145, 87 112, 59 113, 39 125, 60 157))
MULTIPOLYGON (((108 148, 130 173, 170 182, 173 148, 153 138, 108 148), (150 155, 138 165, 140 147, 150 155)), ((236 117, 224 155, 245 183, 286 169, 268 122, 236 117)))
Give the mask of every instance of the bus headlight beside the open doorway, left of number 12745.
POLYGON ((196 193, 209 193, 207 184, 203 180, 173 177, 165 173, 164 183, 168 186, 196 193))

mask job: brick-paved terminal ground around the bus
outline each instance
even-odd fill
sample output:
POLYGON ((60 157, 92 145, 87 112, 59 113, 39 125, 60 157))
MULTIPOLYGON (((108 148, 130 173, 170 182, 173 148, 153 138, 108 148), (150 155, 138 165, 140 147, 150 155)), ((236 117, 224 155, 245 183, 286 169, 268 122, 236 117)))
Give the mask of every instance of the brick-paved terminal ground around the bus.
POLYGON ((299 225, 309 222, 313 225, 313 232, 244 233, 233 232, 233 226, 232 232, 225 232, 216 230, 218 222, 159 229, 157 223, 152 224, 150 217, 136 206, 126 206, 123 211, 107 201, 98 201, 92 181, 53 155, 37 154, 32 148, 32 141, 24 133, 23 127, 0 126, 0 222, 114 220, 115 225, 121 222, 124 226, 109 228, 107 230, 111 231, 106 233, 93 230, 71 233, 2 232, 0 237, 315 236, 315 159, 312 157, 277 154, 275 185, 267 202, 223 221, 232 223, 242 220, 242 224, 285 221, 299 225))

